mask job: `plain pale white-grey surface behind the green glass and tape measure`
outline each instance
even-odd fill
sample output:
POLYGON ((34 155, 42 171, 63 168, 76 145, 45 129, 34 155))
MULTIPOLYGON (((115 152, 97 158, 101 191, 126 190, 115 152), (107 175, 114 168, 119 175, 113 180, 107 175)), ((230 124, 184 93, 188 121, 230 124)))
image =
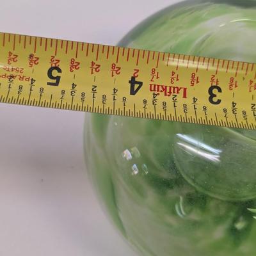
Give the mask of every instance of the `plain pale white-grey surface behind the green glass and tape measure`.
MULTIPOLYGON (((0 31, 115 45, 172 0, 1 0, 0 31)), ((0 104, 0 255, 134 256, 86 175, 84 113, 0 104)))

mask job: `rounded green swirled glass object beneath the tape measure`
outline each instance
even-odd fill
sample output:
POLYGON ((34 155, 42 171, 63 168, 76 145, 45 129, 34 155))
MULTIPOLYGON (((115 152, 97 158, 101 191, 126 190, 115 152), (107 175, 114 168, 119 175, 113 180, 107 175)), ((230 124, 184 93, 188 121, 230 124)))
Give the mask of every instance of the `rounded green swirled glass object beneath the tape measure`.
MULTIPOLYGON (((256 1, 186 1, 119 45, 256 62, 256 1)), ((256 255, 256 132, 86 115, 86 164, 145 256, 256 255)))

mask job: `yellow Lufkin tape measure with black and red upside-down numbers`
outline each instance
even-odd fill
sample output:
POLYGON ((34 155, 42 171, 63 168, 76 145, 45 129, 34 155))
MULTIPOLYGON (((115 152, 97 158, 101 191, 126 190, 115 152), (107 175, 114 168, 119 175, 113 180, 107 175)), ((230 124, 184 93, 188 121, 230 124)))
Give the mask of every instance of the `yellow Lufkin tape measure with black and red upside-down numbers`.
POLYGON ((0 33, 0 102, 256 129, 256 64, 0 33))

